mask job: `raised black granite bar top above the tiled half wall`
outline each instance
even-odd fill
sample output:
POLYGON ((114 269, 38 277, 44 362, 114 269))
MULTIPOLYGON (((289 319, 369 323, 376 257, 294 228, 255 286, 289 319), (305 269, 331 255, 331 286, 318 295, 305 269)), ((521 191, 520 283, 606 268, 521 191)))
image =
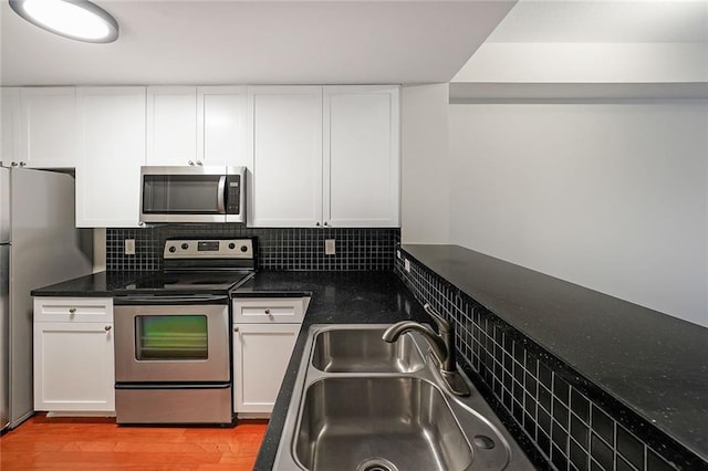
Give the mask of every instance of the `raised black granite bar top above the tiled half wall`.
POLYGON ((708 460, 708 328, 461 247, 402 249, 708 460))

